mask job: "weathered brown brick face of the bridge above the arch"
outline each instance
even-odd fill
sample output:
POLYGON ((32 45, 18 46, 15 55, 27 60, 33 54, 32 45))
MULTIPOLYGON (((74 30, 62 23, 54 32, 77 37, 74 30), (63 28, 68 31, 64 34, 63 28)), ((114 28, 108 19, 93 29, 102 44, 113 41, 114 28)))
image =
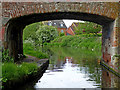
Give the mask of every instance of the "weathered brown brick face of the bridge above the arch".
MULTIPOLYGON (((117 2, 3 2, 3 19, 16 18, 34 13, 80 12, 106 16, 112 19, 118 17, 117 2)), ((8 20, 3 20, 4 24, 8 20)))

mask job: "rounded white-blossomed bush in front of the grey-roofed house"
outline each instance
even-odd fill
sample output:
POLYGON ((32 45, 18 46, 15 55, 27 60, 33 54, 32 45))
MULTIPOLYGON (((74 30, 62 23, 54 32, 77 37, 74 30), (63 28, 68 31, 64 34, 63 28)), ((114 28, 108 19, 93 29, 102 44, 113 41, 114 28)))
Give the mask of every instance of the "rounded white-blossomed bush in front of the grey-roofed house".
POLYGON ((54 40, 57 36, 57 29, 53 26, 40 26, 36 32, 37 38, 41 44, 54 40))

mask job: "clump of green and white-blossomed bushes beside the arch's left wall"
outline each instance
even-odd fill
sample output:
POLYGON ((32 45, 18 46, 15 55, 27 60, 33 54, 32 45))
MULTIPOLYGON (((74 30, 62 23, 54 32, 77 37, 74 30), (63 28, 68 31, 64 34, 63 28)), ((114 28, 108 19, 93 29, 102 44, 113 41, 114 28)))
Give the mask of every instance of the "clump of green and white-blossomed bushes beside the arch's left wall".
POLYGON ((33 45, 42 45, 50 42, 58 35, 57 29, 53 26, 43 25, 42 22, 33 23, 25 27, 23 32, 23 40, 25 43, 33 45))

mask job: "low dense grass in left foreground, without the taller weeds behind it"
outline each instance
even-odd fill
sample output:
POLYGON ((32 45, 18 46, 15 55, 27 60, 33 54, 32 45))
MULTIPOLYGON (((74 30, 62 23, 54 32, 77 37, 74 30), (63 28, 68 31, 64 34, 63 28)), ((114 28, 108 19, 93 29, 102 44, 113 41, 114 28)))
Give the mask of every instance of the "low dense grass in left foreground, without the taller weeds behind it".
POLYGON ((7 62, 2 64, 2 82, 7 82, 9 80, 18 80, 24 76, 37 71, 36 63, 25 63, 20 65, 7 62))

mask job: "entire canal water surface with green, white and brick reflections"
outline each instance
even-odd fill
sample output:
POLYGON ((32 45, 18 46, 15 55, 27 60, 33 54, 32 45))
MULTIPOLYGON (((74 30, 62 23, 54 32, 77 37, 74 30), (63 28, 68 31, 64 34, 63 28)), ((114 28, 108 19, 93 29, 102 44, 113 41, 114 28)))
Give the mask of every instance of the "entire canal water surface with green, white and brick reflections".
POLYGON ((45 47, 50 64, 42 78, 32 86, 37 88, 118 88, 117 76, 100 65, 101 51, 71 47, 45 47))

